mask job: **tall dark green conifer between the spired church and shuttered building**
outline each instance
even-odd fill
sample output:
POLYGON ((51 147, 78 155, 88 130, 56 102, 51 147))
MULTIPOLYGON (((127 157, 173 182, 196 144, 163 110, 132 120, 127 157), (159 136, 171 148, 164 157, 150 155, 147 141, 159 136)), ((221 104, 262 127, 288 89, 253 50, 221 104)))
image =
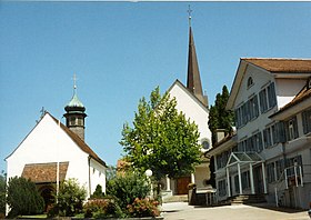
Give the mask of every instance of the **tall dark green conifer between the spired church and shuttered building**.
POLYGON ((225 134, 233 131, 234 114, 231 110, 225 110, 229 96, 227 87, 223 86, 222 93, 215 96, 214 106, 210 108, 209 128, 212 132, 212 144, 217 142, 217 129, 224 129, 225 134))

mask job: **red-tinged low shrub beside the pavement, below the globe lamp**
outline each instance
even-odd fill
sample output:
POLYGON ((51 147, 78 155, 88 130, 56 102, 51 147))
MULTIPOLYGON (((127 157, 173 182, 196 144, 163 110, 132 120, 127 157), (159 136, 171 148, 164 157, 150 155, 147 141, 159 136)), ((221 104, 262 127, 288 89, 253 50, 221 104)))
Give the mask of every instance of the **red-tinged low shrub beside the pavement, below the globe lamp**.
POLYGON ((159 217, 158 206, 159 202, 156 200, 137 198, 132 204, 128 204, 128 211, 131 217, 159 217))

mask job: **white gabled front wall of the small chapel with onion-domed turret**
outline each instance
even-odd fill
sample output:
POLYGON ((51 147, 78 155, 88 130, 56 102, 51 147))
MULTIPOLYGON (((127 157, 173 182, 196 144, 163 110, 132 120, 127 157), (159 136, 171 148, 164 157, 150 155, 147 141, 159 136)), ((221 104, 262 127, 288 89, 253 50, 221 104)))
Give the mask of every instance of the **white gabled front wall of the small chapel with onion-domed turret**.
POLYGON ((66 179, 76 178, 88 187, 88 154, 49 116, 37 124, 16 151, 7 158, 8 178, 20 177, 27 163, 69 161, 66 179))

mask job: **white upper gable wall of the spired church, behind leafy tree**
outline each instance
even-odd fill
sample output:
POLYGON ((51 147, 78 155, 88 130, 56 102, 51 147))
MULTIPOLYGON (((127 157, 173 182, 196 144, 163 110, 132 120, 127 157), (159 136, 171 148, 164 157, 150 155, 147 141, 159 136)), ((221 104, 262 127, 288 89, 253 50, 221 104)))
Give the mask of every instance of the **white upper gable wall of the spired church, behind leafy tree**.
POLYGON ((171 97, 177 99, 177 109, 198 126, 200 132, 199 140, 208 139, 211 144, 211 131, 208 126, 209 111, 203 109, 198 100, 191 98, 179 83, 175 83, 169 92, 171 97))

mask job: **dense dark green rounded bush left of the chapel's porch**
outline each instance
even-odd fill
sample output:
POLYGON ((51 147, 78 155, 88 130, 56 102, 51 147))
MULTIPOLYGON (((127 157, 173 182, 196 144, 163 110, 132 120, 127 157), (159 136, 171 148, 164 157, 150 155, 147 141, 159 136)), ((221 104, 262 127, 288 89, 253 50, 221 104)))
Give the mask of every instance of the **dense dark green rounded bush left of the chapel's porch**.
POLYGON ((36 184, 21 177, 9 179, 7 202, 11 208, 9 218, 42 213, 44 209, 43 198, 39 194, 36 184))

